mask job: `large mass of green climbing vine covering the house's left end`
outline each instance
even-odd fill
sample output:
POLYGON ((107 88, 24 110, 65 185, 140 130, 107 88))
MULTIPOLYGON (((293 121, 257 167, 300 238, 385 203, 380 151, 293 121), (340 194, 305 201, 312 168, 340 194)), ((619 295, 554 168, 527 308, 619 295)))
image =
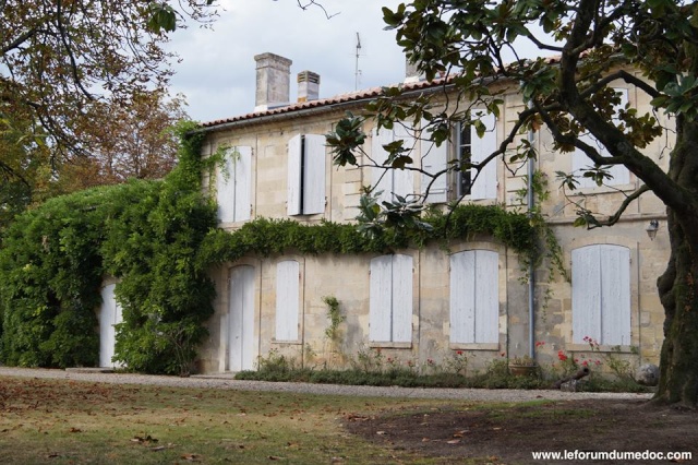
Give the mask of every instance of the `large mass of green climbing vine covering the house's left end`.
POLYGON ((16 218, 0 251, 0 357, 5 365, 95 366, 105 276, 123 311, 116 358, 129 369, 186 373, 213 314, 214 285, 195 260, 216 226, 201 193, 203 135, 183 136, 163 181, 133 180, 52 199, 16 218))

